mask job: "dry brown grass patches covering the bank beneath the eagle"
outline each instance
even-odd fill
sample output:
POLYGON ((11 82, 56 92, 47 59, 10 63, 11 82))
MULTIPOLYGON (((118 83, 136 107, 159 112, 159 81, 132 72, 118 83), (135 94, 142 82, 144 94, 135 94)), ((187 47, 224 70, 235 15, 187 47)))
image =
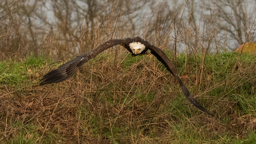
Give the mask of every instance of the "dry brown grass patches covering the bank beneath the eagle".
MULTIPOLYGON (((112 64, 115 58, 110 55, 86 63, 77 76, 65 82, 26 86, 19 91, 2 86, 2 140, 8 141, 26 130, 26 138, 35 133, 41 136, 37 142, 52 135, 55 142, 66 143, 179 143, 187 132, 193 136, 197 131, 196 137, 201 140, 214 140, 225 135, 243 137, 249 129, 254 131, 255 117, 241 116, 236 110, 238 102, 230 100, 228 93, 223 98, 201 93, 200 99, 208 99, 202 99, 201 103, 210 106, 215 115, 209 117, 186 101, 175 105, 174 101, 183 95, 174 77, 162 70, 163 65, 157 59, 141 56, 126 67, 122 63, 127 58, 124 52, 117 54, 116 65, 112 64), (225 118, 229 120, 224 122, 225 118), (17 126, 17 123, 20 124, 17 126), (27 127, 31 125, 36 126, 36 131, 27 127)), ((36 72, 44 75, 48 68, 36 72)), ((40 79, 35 76, 36 72, 31 81, 40 79)), ((210 86, 213 81, 209 81, 213 78, 211 75, 210 79, 203 80, 205 85, 201 88, 205 87, 207 93, 224 83, 235 85, 239 81, 237 77, 243 79, 254 72, 255 68, 241 67, 226 82, 213 86, 210 86)), ((249 81, 253 83, 253 77, 249 81)), ((186 83, 193 85, 191 81, 186 83)))

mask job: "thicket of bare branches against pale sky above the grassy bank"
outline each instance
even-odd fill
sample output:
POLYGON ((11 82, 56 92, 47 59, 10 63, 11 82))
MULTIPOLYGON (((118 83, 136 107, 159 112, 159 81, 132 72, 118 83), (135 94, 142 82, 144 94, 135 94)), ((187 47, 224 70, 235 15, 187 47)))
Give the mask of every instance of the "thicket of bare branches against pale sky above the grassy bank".
POLYGON ((0 58, 62 58, 135 36, 175 53, 223 51, 254 41, 254 6, 245 0, 4 0, 0 58))

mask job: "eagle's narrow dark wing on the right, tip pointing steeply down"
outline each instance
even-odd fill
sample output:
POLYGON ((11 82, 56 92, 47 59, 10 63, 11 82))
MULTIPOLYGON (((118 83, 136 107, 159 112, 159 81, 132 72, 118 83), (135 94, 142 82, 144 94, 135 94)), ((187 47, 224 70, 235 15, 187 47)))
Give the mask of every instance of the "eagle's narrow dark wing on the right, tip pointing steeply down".
POLYGON ((178 80, 180 88, 186 97, 187 100, 189 100, 190 103, 192 103, 195 107, 199 108, 199 110, 207 113, 208 115, 213 116, 212 113, 205 110, 203 106, 200 105, 198 101, 195 100, 193 95, 189 92, 188 88, 184 85, 184 83, 180 80, 180 77, 177 74, 176 68, 174 67, 174 64, 171 63, 170 59, 166 56, 166 54, 160 49, 155 46, 152 46, 151 44, 146 44, 146 47, 148 47, 154 56, 165 65, 165 67, 168 69, 171 74, 174 75, 174 77, 178 80))

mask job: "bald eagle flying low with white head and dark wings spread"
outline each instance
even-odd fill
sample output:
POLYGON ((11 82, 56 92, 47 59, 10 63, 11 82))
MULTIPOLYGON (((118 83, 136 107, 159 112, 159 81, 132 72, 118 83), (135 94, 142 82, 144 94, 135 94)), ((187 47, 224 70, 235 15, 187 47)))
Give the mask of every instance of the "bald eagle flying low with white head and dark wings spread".
POLYGON ((91 52, 83 53, 80 56, 77 56, 75 59, 72 59, 71 61, 68 61, 65 64, 62 64, 57 69, 47 73, 40 80, 41 81, 40 86, 46 85, 49 83, 57 83, 57 82, 67 80, 77 71, 79 67, 85 64, 87 61, 96 57, 99 53, 101 53, 102 51, 105 51, 107 48, 116 46, 117 44, 120 44, 121 46, 125 47, 127 51, 129 51, 132 54, 132 56, 145 54, 146 51, 149 50, 150 53, 153 54, 161 63, 163 63, 165 67, 168 69, 168 71, 171 74, 173 74, 173 76, 178 81, 179 86, 183 91, 185 98, 190 103, 192 103, 195 107, 199 108, 199 110, 205 112, 210 116, 213 116, 212 113, 205 110, 205 108, 201 106, 198 101, 195 100, 193 95, 189 92, 188 88, 186 88, 184 83, 180 80, 180 77, 178 76, 178 73, 176 68, 174 67, 174 64, 171 63, 170 59, 166 56, 166 54, 160 48, 157 48, 151 45, 149 42, 145 41, 145 39, 142 39, 140 37, 125 38, 125 39, 111 39, 101 44, 99 47, 93 49, 91 52))

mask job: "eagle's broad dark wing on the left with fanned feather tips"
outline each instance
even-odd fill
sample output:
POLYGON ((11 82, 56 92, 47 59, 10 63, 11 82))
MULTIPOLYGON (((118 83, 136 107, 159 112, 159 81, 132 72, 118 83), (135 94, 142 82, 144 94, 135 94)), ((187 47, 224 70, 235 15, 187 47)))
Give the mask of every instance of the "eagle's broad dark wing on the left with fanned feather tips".
POLYGON ((99 47, 93 49, 91 52, 83 53, 80 56, 77 56, 75 59, 62 64, 57 69, 47 73, 40 80, 40 86, 46 85, 49 83, 62 82, 70 78, 77 69, 89 61, 91 58, 96 57, 102 51, 105 51, 107 48, 113 47, 117 44, 122 44, 125 42, 125 39, 111 39, 99 47))

